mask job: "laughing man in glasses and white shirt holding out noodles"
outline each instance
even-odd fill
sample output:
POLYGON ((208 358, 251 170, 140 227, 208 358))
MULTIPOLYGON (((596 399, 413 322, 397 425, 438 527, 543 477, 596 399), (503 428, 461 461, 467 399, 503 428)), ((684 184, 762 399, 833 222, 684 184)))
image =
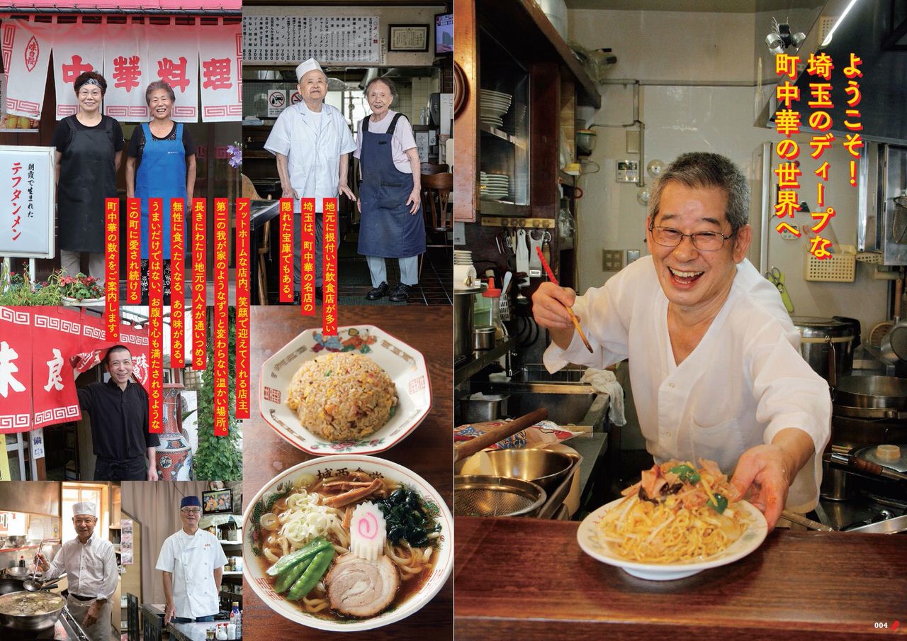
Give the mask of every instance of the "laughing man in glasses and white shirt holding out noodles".
POLYGON ((541 284, 535 320, 551 332, 544 361, 605 368, 629 359, 646 448, 715 460, 766 515, 815 507, 830 436, 828 385, 801 358, 773 285, 746 260, 749 187, 717 153, 686 153, 655 183, 651 256, 576 297, 541 284), (571 307, 594 353, 583 346, 571 307))

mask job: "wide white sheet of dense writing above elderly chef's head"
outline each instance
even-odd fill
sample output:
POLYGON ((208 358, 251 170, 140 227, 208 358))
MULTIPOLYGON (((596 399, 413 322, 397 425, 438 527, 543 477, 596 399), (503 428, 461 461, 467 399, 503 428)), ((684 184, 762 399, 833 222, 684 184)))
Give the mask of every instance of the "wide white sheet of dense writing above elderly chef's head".
POLYGON ((381 63, 377 17, 244 15, 242 35, 247 63, 381 63))

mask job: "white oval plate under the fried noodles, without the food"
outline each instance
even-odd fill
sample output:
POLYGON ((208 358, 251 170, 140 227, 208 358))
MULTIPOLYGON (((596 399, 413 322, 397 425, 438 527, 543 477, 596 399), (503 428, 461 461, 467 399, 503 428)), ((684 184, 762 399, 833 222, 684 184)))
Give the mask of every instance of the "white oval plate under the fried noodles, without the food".
POLYGON ((740 538, 736 539, 734 543, 721 552, 701 560, 680 563, 640 563, 639 561, 630 561, 620 557, 617 552, 611 549, 610 545, 602 540, 599 530, 601 518, 610 509, 616 508, 622 500, 623 498, 617 498, 601 506, 588 517, 583 518, 582 523, 580 523, 580 529, 576 533, 577 541, 580 543, 582 551, 590 557, 610 566, 619 567, 633 577, 646 578, 650 581, 672 581, 677 578, 690 577, 711 567, 726 566, 728 563, 733 563, 753 552, 756 547, 762 544, 768 533, 768 525, 766 524, 766 518, 762 516, 762 512, 746 501, 737 501, 734 504, 735 507, 746 510, 746 513, 753 521, 740 538))

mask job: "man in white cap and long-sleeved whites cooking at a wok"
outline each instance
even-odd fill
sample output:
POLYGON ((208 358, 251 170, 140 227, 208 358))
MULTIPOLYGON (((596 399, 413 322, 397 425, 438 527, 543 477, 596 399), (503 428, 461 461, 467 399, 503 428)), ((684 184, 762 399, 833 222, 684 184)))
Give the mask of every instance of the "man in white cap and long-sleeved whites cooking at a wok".
POLYGON ((50 580, 66 573, 69 594, 66 606, 92 641, 110 641, 111 597, 120 574, 116 553, 110 541, 94 533, 98 523, 97 507, 90 502, 73 505, 73 527, 76 537, 63 543, 53 563, 43 554, 34 557, 50 580))

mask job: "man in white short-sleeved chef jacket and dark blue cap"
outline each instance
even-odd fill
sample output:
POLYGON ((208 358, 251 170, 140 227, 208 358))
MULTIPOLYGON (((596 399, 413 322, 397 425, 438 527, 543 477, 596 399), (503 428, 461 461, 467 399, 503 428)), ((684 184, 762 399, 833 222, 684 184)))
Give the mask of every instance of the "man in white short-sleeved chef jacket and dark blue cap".
POLYGON ((182 529, 161 547, 156 569, 163 572, 164 625, 171 622, 213 621, 220 610, 219 592, 227 563, 218 537, 199 529, 201 501, 184 497, 180 502, 182 529))

